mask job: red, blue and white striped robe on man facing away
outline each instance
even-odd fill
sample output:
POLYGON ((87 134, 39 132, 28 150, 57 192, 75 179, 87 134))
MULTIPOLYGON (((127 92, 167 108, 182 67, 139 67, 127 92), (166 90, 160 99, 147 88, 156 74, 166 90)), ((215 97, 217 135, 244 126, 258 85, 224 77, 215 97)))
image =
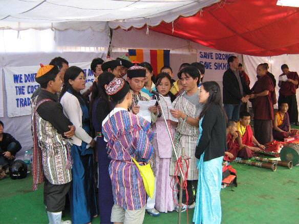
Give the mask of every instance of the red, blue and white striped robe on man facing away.
POLYGON ((108 154, 112 159, 109 174, 113 199, 115 205, 123 209, 138 210, 145 206, 146 193, 131 157, 139 162, 150 160, 153 153, 151 124, 124 109, 114 110, 102 124, 102 134, 108 140, 108 154))

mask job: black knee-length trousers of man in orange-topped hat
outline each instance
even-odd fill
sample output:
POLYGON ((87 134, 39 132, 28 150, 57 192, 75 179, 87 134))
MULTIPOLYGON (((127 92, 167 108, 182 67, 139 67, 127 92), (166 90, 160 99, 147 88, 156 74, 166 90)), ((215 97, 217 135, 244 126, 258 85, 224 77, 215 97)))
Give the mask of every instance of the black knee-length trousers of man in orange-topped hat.
POLYGON ((65 208, 66 195, 71 188, 71 182, 63 185, 53 185, 47 178, 44 184, 44 204, 48 212, 61 212, 65 208))

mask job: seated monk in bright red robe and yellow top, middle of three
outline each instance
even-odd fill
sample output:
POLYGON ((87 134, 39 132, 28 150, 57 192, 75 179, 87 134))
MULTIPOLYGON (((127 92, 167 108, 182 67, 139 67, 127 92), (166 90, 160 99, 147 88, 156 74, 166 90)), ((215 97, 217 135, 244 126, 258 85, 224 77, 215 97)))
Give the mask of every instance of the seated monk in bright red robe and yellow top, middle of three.
POLYGON ((246 147, 253 152, 264 150, 265 146, 261 145, 253 136, 250 119, 250 114, 247 111, 240 113, 240 120, 237 123, 238 144, 241 148, 246 147))

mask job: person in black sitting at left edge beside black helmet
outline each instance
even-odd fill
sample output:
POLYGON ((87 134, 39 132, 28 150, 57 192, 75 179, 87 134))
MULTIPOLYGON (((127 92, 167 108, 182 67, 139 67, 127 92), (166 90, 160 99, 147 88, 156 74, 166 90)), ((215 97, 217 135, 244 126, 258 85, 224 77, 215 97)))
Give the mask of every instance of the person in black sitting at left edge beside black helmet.
MULTIPOLYGON (((4 133, 4 124, 0 120, 0 166, 8 172, 16 153, 22 148, 20 143, 9 133, 4 133)), ((6 173, 7 173, 6 172, 6 173)))

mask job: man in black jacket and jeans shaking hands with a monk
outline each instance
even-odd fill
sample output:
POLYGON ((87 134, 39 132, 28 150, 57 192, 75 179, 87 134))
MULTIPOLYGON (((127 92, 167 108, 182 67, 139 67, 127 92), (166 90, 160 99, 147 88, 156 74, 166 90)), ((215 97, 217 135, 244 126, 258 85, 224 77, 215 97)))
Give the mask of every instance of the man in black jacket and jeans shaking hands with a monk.
POLYGON ((229 69, 224 72, 222 80, 224 110, 229 120, 238 121, 241 104, 249 99, 250 89, 239 74, 239 59, 230 56, 227 63, 229 69))

